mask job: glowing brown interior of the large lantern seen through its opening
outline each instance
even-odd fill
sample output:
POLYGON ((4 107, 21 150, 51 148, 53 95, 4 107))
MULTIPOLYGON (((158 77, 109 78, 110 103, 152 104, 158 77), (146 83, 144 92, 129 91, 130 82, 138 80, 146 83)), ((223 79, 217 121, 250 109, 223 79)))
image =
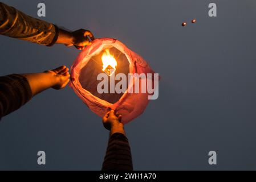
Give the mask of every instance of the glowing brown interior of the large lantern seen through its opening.
MULTIPOLYGON (((129 73, 129 61, 124 53, 120 52, 115 47, 104 49, 98 55, 92 56, 88 63, 81 69, 79 81, 84 89, 91 92, 94 96, 108 101, 111 104, 119 101, 123 93, 98 93, 97 85, 101 80, 97 80, 99 73, 106 73, 111 76, 115 73, 124 73, 127 75, 127 87, 128 87, 128 73, 129 73)), ((108 79, 110 82, 110 78, 108 79)), ((119 81, 115 81, 115 84, 119 81)))

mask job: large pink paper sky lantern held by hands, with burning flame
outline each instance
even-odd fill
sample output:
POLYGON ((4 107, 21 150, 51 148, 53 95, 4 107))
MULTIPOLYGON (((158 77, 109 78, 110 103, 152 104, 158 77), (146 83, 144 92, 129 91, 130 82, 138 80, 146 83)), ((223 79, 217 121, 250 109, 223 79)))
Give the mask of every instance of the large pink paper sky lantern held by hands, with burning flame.
POLYGON ((101 38, 72 64, 70 86, 99 117, 113 109, 125 124, 143 113, 158 92, 158 81, 141 56, 116 39, 101 38))

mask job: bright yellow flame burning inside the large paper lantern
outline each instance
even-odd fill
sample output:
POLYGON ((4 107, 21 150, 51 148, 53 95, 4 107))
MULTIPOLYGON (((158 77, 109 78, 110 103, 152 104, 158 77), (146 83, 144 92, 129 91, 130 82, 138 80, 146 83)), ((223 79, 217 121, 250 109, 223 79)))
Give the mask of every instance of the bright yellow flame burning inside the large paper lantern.
POLYGON ((116 70, 117 61, 113 55, 109 53, 109 49, 105 49, 105 52, 101 56, 101 60, 103 63, 103 71, 107 72, 109 76, 112 75, 112 73, 116 70), (109 65, 114 69, 114 71, 111 72, 111 70, 108 68, 109 65))

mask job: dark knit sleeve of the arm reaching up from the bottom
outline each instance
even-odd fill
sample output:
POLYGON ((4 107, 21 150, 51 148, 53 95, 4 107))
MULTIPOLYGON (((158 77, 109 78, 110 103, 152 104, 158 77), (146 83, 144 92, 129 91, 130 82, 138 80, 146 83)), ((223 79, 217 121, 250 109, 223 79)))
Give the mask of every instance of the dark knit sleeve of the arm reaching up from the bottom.
POLYGON ((132 155, 128 139, 121 133, 113 134, 108 141, 108 148, 102 171, 132 171, 132 155))

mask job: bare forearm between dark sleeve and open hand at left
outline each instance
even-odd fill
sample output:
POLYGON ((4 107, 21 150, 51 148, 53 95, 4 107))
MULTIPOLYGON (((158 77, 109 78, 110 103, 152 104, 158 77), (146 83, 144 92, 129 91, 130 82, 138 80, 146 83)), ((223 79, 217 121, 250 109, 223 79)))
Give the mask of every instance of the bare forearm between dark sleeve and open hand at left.
POLYGON ((35 96, 36 94, 43 92, 56 84, 55 79, 53 79, 48 73, 28 73, 22 74, 22 76, 27 78, 32 96, 35 96))

